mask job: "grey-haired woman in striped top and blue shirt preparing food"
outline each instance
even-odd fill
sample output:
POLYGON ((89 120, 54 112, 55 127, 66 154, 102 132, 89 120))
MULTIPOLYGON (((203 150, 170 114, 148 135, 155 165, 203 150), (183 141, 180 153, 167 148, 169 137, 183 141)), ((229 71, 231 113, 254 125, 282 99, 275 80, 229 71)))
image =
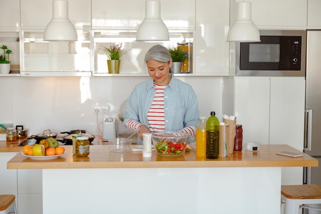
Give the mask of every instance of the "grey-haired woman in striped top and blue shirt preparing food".
POLYGON ((130 94, 124 125, 138 133, 137 144, 143 144, 143 133, 182 131, 193 137, 199 122, 197 97, 190 85, 174 78, 168 49, 151 47, 145 62, 152 79, 137 84, 130 94))

